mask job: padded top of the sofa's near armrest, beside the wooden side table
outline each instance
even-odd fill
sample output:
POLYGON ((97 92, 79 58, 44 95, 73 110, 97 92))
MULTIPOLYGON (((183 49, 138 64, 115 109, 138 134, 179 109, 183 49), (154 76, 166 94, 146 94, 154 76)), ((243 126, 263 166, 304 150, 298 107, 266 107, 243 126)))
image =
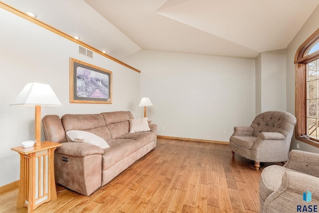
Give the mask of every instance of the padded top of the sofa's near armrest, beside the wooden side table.
POLYGON ((85 157, 93 154, 104 154, 104 150, 96 145, 84 142, 65 142, 61 146, 57 147, 56 153, 85 157))

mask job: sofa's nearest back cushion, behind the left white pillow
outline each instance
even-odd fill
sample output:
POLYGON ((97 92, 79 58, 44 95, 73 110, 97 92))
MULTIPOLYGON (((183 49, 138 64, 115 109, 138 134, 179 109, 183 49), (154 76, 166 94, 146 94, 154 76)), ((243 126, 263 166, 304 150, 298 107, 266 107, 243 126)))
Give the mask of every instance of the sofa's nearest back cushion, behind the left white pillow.
MULTIPOLYGON (((85 130, 106 141, 112 139, 101 114, 65 114, 61 117, 61 121, 64 131, 85 130)), ((68 142, 71 142, 71 140, 68 139, 68 142)))

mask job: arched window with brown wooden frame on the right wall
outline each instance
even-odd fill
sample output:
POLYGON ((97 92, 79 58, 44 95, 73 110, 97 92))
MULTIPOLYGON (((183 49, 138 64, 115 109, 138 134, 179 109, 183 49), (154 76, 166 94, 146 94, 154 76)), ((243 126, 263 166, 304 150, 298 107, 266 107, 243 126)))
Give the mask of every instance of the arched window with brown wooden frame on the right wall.
POLYGON ((297 50, 296 139, 319 147, 319 29, 297 50))

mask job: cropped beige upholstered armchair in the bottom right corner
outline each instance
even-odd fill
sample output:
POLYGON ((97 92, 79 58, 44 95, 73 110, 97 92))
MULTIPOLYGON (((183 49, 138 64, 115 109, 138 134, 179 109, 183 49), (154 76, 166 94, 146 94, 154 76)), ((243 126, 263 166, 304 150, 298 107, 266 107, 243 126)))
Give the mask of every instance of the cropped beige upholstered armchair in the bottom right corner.
POLYGON ((318 162, 319 154, 292 150, 284 166, 266 167, 259 180, 260 213, 318 211, 318 162))

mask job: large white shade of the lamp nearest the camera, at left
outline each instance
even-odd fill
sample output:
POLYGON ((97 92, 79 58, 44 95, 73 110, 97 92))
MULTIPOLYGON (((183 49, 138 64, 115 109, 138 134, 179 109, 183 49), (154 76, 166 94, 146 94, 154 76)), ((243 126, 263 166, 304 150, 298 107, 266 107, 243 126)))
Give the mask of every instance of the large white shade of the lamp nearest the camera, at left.
POLYGON ((62 106, 47 83, 27 83, 10 106, 62 106))

